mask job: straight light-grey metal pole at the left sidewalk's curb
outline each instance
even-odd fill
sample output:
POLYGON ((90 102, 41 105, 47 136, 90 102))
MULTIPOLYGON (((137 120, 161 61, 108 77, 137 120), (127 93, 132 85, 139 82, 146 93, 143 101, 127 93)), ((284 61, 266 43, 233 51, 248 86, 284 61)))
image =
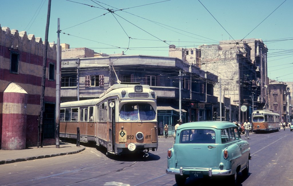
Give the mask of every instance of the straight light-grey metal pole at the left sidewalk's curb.
POLYGON ((59 139, 59 133, 60 133, 60 18, 58 18, 58 30, 57 30, 57 72, 56 72, 56 130, 55 130, 55 139, 56 139, 56 148, 60 147, 60 139, 59 139))

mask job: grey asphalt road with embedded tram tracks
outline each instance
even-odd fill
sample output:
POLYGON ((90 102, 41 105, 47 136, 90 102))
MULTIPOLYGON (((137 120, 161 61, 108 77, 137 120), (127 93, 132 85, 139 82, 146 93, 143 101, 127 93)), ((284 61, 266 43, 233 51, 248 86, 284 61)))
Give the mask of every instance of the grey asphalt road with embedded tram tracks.
MULTIPOLYGON (((292 185, 293 131, 250 133, 252 160, 249 176, 239 173, 239 185, 292 185)), ((244 138, 244 135, 241 135, 244 138)), ((166 151, 174 138, 159 138, 158 151, 144 158, 107 155, 106 150, 85 145, 78 154, 0 165, 0 185, 167 185, 175 186, 174 175, 165 173, 166 151)), ((219 185, 225 180, 187 179, 186 185, 219 185)))

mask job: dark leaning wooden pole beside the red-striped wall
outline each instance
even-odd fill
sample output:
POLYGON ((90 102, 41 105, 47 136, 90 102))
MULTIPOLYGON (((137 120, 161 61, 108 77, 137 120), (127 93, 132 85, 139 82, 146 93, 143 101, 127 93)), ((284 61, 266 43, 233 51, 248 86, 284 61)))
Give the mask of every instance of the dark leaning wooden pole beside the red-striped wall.
MULTIPOLYGON (((45 31, 45 51, 43 57, 43 75, 42 75, 42 89, 41 89, 41 100, 40 100, 40 125, 38 135, 38 141, 41 136, 41 147, 43 147, 43 115, 44 115, 44 99, 45 99, 45 81, 46 81, 46 65, 47 65, 47 51, 48 51, 48 33, 49 33, 49 24, 50 24, 50 12, 51 12, 51 0, 48 0, 48 12, 47 12, 47 24, 45 31)), ((39 147, 39 143, 37 144, 39 147)))

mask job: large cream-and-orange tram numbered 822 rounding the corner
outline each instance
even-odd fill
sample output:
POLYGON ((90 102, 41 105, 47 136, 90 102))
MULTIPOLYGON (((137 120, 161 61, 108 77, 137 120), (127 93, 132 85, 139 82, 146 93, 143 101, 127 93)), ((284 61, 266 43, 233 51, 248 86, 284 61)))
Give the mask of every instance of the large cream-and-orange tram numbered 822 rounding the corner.
POLYGON ((96 142, 108 153, 158 148, 156 94, 149 85, 114 84, 100 98, 60 104, 60 137, 96 142))

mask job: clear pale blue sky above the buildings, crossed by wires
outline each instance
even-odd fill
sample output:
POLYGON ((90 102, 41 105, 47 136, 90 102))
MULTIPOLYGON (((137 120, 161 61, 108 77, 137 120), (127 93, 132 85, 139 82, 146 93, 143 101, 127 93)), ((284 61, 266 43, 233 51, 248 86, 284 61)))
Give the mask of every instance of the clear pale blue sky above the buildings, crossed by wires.
MULTIPOLYGON (((169 44, 190 48, 257 38, 269 49, 270 79, 293 81, 293 1, 284 1, 52 0, 48 41, 57 42, 58 18, 61 43, 108 54, 168 56, 169 44)), ((44 41, 47 8, 48 0, 2 0, 1 27, 26 31, 44 41)))

